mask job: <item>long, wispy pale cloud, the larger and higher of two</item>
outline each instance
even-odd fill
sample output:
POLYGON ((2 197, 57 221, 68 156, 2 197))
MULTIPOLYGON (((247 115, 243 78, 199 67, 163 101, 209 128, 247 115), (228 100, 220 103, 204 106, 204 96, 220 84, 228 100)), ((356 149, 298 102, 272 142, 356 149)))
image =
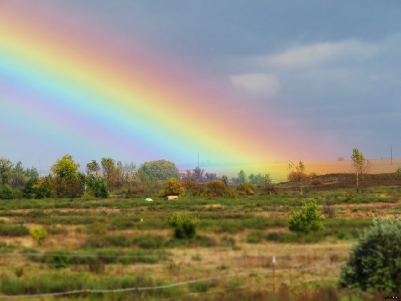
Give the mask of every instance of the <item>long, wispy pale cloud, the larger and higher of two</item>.
POLYGON ((267 67, 302 69, 317 67, 338 61, 361 61, 372 57, 379 47, 357 40, 323 42, 292 47, 277 55, 262 55, 249 58, 252 63, 267 67))

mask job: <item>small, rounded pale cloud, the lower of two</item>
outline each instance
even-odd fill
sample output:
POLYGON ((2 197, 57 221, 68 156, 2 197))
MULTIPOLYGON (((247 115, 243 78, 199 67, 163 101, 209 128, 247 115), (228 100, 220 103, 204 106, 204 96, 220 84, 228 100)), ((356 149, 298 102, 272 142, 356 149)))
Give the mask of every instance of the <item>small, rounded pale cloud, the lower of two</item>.
POLYGON ((277 77, 267 73, 230 75, 230 81, 251 94, 268 97, 274 97, 280 88, 280 82, 277 77))

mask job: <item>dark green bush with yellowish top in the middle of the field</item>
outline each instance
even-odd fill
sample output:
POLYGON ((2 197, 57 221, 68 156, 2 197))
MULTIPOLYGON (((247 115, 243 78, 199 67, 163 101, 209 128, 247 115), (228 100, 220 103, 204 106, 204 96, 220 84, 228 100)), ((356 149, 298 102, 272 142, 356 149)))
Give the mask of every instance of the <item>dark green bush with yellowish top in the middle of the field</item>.
POLYGON ((186 212, 182 215, 176 213, 167 218, 167 223, 174 228, 176 238, 190 239, 196 234, 199 219, 197 216, 189 216, 186 212))

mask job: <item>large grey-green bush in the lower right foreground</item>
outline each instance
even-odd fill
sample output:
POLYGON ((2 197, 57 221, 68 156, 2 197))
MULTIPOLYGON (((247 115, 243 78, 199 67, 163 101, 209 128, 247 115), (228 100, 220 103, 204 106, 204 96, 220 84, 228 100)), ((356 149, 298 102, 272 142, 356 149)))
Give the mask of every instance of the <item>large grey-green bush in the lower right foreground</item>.
POLYGON ((401 220, 373 219, 342 266, 339 285, 397 293, 401 287, 401 220))

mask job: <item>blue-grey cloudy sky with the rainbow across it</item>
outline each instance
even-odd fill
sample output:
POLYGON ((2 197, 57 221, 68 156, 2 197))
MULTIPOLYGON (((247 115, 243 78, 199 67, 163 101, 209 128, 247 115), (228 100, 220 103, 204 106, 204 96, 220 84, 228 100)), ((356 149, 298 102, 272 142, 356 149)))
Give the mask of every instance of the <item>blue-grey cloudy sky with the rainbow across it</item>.
POLYGON ((0 2, 0 157, 401 157, 398 1, 0 2))

